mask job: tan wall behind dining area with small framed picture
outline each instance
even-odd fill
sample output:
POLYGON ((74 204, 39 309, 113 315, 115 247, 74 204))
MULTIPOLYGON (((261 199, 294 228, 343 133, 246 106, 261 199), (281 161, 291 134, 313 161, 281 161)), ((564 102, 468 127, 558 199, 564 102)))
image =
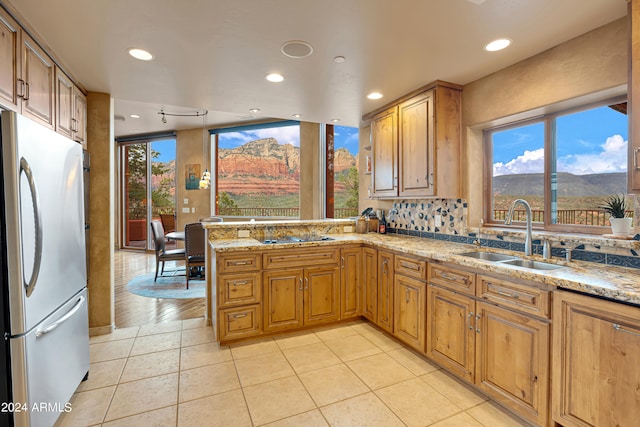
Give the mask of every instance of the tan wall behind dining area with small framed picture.
POLYGON ((209 133, 208 131, 203 131, 202 128, 182 130, 176 133, 177 230, 183 230, 185 224, 197 222, 200 218, 211 214, 211 189, 186 189, 186 165, 200 165, 200 176, 202 176, 205 168, 211 171, 209 148, 209 133), (206 134, 203 134, 203 132, 206 132, 206 134), (203 136, 206 139, 206 143, 203 140, 203 136), (188 199, 187 204, 184 203, 184 199, 188 199), (189 213, 183 213, 183 208, 188 208, 189 213), (193 209, 195 209, 195 212, 191 212, 193 209))

